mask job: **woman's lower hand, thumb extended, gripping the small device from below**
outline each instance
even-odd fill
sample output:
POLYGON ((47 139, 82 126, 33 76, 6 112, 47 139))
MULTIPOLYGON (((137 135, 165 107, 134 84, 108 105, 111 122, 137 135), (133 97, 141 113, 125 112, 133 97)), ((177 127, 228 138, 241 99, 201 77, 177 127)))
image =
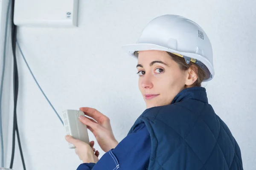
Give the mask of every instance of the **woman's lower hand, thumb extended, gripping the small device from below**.
POLYGON ((99 151, 95 151, 95 149, 93 148, 93 141, 91 141, 89 145, 85 142, 80 141, 79 139, 74 139, 70 135, 66 135, 65 139, 67 142, 72 143, 76 147, 76 155, 79 156, 79 159, 83 161, 83 163, 97 163, 99 161, 99 151))

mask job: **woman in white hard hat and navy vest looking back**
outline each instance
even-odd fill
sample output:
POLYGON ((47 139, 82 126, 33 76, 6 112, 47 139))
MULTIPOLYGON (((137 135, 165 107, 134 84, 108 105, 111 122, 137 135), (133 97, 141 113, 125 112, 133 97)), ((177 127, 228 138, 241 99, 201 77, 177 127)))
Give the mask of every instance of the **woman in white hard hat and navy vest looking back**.
POLYGON ((138 58, 139 88, 147 109, 118 143, 108 117, 80 108, 106 153, 71 136, 83 161, 77 170, 242 170, 239 146, 208 104, 201 82, 214 76, 212 46, 203 29, 177 15, 151 20, 136 44, 124 49, 138 58))

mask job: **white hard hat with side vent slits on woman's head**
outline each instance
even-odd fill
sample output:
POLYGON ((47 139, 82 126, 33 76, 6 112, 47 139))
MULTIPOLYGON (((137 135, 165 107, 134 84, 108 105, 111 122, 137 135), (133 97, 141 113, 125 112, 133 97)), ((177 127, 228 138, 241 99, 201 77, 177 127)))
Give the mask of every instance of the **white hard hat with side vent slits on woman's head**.
POLYGON ((198 64, 207 75, 203 82, 214 76, 211 42, 198 24, 185 17, 171 14, 156 17, 145 26, 136 44, 122 48, 134 57, 138 57, 138 51, 168 51, 184 57, 187 64, 198 64))

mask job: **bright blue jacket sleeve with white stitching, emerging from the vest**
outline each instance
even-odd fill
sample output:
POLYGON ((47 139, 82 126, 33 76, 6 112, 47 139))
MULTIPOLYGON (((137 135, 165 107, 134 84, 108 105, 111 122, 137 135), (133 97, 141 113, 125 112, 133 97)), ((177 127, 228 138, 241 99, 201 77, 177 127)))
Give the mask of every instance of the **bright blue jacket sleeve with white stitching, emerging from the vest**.
POLYGON ((96 164, 80 164, 77 170, 145 170, 151 153, 151 138, 142 122, 96 164))

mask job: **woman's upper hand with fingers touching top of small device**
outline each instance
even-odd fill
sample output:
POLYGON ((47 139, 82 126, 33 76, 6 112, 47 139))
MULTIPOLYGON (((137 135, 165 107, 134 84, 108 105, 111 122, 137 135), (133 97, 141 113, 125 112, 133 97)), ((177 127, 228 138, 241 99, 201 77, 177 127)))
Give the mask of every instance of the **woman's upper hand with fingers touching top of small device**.
POLYGON ((102 150, 108 152, 108 150, 115 148, 118 142, 113 135, 109 118, 94 108, 80 108, 80 111, 97 121, 85 116, 79 117, 80 121, 87 125, 87 128, 93 133, 102 150))

